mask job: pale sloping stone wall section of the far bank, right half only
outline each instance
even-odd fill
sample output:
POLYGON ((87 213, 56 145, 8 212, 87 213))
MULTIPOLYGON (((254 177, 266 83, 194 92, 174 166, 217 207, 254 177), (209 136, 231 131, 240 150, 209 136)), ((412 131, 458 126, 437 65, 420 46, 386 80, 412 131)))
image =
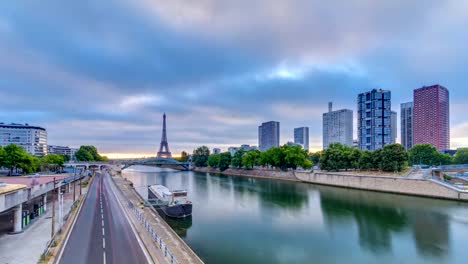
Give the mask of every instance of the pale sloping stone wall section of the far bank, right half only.
POLYGON ((468 201, 467 192, 459 192, 454 188, 444 186, 442 183, 430 180, 367 175, 344 175, 325 172, 295 172, 295 174, 298 179, 308 183, 468 201))

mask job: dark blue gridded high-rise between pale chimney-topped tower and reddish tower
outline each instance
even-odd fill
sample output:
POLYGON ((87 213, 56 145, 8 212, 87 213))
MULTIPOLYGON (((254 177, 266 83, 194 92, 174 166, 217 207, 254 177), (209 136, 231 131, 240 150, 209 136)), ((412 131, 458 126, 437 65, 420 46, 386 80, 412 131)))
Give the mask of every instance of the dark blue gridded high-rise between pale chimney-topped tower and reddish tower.
POLYGON ((361 150, 392 143, 391 92, 382 89, 358 95, 358 140, 361 150))

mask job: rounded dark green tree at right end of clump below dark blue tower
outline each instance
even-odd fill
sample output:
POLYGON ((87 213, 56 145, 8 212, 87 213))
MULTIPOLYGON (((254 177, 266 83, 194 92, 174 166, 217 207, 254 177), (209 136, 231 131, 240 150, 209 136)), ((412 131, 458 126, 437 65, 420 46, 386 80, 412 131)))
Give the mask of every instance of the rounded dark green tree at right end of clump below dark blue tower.
POLYGON ((400 144, 385 145, 379 154, 383 171, 402 171, 408 165, 408 153, 400 144))

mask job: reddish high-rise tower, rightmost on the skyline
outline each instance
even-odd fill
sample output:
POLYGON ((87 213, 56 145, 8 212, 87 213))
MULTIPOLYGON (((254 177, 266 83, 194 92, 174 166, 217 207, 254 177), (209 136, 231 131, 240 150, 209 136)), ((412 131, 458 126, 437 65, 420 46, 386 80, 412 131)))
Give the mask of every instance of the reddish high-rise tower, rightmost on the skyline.
POLYGON ((450 148, 449 91, 441 85, 414 90, 413 143, 450 148))

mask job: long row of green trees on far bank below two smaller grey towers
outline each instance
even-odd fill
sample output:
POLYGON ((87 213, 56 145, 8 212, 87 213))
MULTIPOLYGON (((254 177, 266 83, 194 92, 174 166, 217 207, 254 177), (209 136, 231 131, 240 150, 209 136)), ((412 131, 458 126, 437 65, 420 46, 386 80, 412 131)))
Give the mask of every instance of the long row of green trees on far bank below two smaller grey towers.
POLYGON ((193 151, 192 160, 197 167, 210 166, 221 171, 233 168, 252 169, 255 166, 272 167, 282 170, 310 168, 312 162, 308 152, 300 146, 272 147, 266 151, 242 149, 231 156, 230 152, 210 154, 206 146, 201 146, 193 151))

